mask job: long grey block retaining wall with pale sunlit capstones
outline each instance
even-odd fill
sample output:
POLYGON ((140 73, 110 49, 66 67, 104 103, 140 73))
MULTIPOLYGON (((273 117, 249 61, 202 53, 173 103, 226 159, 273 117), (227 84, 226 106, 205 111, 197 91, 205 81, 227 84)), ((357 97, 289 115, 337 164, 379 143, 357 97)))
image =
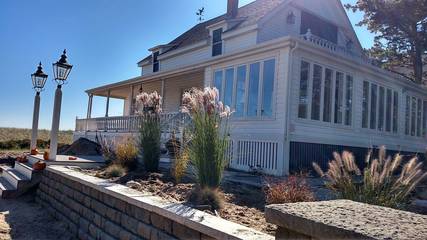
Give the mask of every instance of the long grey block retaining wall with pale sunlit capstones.
POLYGON ((84 175, 50 166, 36 201, 79 239, 272 239, 270 235, 84 175))

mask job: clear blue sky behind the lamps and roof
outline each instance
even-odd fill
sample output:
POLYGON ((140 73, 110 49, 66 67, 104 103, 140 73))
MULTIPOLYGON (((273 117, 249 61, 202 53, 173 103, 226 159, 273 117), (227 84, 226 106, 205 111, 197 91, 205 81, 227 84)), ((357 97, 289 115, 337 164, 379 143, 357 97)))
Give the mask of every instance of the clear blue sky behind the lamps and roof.
MULTIPOLYGON (((240 0, 240 5, 253 0, 240 0)), ((344 3, 355 0, 342 0, 344 3)), ((223 14, 226 0, 1 0, 0 1, 0 126, 31 127, 34 91, 30 75, 42 61, 49 74, 42 93, 40 128, 50 129, 55 85, 52 63, 64 48, 74 65, 63 87, 61 129, 74 129, 84 117, 84 90, 138 76, 136 63, 150 47, 167 43, 197 23, 223 14)), ((349 13, 353 24, 360 13, 349 13)), ((373 35, 356 28, 364 47, 373 35)), ((112 101, 110 115, 122 113, 112 101)), ((105 98, 94 99, 93 116, 102 116, 105 98)))

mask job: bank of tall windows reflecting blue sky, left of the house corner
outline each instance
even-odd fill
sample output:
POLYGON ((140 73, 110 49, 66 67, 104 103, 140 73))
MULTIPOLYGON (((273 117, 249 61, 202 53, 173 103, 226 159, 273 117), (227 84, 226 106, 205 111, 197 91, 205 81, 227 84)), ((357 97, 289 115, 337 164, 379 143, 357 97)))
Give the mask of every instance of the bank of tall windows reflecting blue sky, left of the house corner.
POLYGON ((217 70, 213 85, 220 92, 220 100, 235 111, 234 117, 271 117, 275 68, 276 60, 268 59, 217 70))

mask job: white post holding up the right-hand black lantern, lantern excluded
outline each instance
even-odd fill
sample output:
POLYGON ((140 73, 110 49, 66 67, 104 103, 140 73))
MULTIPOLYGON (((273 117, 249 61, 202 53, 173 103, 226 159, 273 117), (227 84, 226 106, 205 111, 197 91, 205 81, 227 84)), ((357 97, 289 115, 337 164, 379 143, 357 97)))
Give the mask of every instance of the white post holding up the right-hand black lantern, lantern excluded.
POLYGON ((61 118, 61 103, 62 103, 62 90, 61 85, 58 85, 55 91, 55 102, 53 103, 53 118, 52 118, 52 129, 50 131, 50 148, 49 148, 49 160, 56 160, 56 154, 58 151, 58 131, 59 131, 59 120, 61 118))

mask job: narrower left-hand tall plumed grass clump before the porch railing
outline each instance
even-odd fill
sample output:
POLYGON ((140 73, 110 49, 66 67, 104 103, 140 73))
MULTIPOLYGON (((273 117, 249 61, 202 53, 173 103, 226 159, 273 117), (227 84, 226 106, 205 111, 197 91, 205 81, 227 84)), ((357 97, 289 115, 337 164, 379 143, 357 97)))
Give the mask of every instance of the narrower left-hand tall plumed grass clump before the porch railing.
POLYGON ((142 116, 139 144, 144 168, 148 172, 157 172, 160 162, 160 113, 162 97, 157 93, 141 93, 136 97, 140 105, 138 113, 142 116))

